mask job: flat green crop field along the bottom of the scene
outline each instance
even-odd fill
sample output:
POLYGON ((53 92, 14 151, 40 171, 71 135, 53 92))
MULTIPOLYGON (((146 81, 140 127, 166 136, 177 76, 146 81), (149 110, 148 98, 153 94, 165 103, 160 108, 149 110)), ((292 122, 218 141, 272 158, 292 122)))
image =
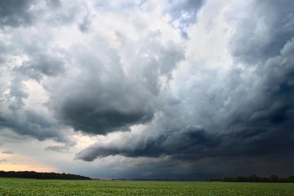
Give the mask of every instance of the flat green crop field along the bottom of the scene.
POLYGON ((0 196, 294 196, 294 184, 0 178, 0 196))

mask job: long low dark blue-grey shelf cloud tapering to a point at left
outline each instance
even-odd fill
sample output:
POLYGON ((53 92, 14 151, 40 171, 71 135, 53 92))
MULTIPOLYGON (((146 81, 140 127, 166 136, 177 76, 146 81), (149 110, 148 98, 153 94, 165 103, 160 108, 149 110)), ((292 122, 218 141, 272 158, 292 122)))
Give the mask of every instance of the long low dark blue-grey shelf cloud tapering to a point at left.
POLYGON ((163 131, 163 135, 155 138, 150 138, 145 133, 141 138, 121 138, 123 142, 119 144, 97 143, 78 152, 75 158, 93 161, 117 154, 126 157, 172 155, 176 160, 194 161, 206 157, 251 157, 294 151, 291 129, 293 122, 281 126, 274 126, 275 122, 269 125, 259 123, 262 123, 262 126, 246 123, 235 125, 228 127, 232 132, 223 133, 211 133, 195 125, 189 125, 180 131, 163 131), (241 128, 242 126, 244 128, 241 128))

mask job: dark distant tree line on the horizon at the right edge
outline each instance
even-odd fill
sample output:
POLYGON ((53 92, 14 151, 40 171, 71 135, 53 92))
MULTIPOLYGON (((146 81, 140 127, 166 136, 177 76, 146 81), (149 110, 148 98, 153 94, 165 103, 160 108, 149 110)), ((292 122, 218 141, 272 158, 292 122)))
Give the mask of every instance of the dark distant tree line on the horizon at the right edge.
POLYGON ((288 176, 287 178, 280 178, 278 175, 272 174, 270 177, 259 177, 256 174, 251 174, 247 177, 225 177, 225 178, 210 178, 207 182, 274 182, 274 183, 294 183, 294 175, 288 176))

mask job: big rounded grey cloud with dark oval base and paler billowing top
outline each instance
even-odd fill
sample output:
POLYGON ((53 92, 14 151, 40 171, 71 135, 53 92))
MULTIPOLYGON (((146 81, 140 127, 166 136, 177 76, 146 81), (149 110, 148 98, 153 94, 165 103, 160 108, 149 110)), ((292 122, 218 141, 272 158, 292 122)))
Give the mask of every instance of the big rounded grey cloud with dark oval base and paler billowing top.
POLYGON ((98 56, 83 46, 73 47, 80 74, 71 81, 60 78, 63 85, 49 89, 57 119, 76 131, 100 135, 129 131, 132 125, 150 122, 157 104, 159 77, 171 74, 184 58, 181 48, 173 43, 164 47, 156 38, 153 33, 147 36, 149 47, 141 50, 148 52, 152 60, 138 55, 136 63, 142 66, 133 70, 131 77, 122 69, 118 50, 99 47, 98 56), (159 56, 157 60, 155 54, 159 56))

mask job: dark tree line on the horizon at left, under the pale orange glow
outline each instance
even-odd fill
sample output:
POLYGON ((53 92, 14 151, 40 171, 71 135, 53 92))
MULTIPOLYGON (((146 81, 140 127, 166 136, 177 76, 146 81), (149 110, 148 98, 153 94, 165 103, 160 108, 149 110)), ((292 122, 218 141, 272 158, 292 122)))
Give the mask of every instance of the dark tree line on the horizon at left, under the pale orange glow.
POLYGON ((89 177, 69 174, 69 173, 54 173, 54 172, 4 172, 0 171, 0 177, 8 178, 34 178, 34 179, 63 179, 63 180, 91 180, 89 177))

